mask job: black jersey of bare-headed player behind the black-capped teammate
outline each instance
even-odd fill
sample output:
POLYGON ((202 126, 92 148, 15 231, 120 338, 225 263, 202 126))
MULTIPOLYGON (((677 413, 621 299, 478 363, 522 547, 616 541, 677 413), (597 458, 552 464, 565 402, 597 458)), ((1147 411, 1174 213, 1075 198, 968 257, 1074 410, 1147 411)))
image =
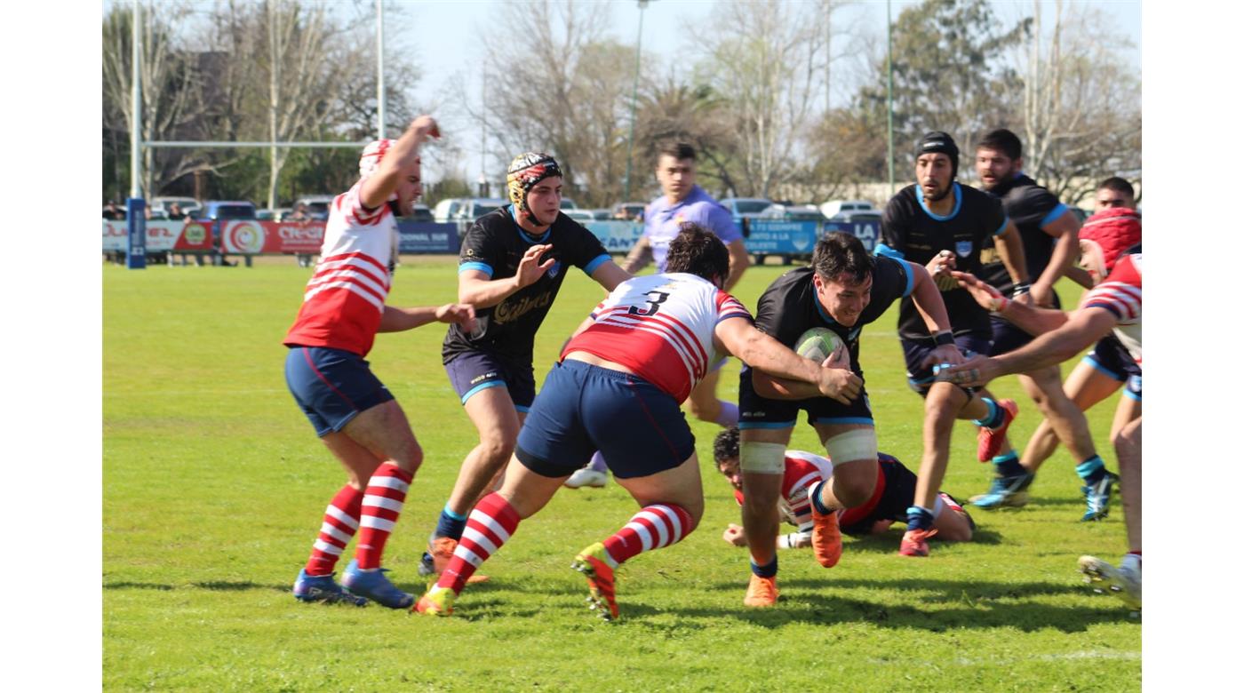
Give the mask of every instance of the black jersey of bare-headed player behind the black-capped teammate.
MULTIPOLYGON (((999 183, 993 190, 985 190, 985 193, 1003 200, 1003 209, 1015 223, 1020 239, 1024 241, 1024 264, 1028 266, 1028 279, 1036 281, 1050 264, 1054 246, 1057 244, 1057 239, 1042 231, 1041 226, 1062 216, 1067 205, 1023 173, 1010 182, 999 183)), ((977 276, 1009 296, 1015 285, 1011 282, 1010 274, 1006 272, 1006 265, 1003 265, 996 256, 994 240, 989 239, 985 243, 984 265, 977 276)))

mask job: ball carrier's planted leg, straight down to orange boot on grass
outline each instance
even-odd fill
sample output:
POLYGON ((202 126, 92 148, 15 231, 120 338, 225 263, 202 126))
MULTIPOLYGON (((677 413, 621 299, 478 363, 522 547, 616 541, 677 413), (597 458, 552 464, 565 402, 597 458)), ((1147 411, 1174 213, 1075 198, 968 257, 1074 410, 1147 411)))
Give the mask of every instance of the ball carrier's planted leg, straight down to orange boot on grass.
POLYGON ((778 547, 774 537, 781 519, 778 496, 785 468, 782 452, 790 443, 791 428, 746 428, 739 432, 739 457, 743 467, 743 531, 751 554, 751 584, 743 603, 773 606, 778 601, 778 547), (756 450, 764 450, 758 453, 756 450), (751 459, 771 458, 765 470, 749 470, 751 459))

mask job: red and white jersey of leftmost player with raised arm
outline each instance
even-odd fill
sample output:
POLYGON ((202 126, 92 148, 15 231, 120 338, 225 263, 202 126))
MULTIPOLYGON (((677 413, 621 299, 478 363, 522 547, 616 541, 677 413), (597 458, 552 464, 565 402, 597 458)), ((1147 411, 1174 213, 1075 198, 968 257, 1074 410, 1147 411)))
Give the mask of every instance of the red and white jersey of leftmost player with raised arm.
POLYGON ((340 348, 367 356, 388 297, 388 264, 397 221, 387 204, 367 209, 358 199, 362 180, 337 195, 328 209, 315 275, 285 345, 340 348))

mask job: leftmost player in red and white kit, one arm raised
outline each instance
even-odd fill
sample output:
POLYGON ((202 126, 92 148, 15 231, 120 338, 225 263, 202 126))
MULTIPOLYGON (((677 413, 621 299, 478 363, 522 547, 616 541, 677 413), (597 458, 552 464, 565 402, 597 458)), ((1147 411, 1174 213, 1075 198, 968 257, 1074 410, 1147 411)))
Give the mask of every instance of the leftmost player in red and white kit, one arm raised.
POLYGON ((419 116, 397 141, 379 139, 363 149, 358 183, 332 202, 320 263, 285 336, 285 382, 348 478, 328 504, 311 557, 294 582, 294 596, 302 601, 362 606, 372 600, 391 608, 414 602, 388 581, 381 557, 423 450, 402 407, 363 358, 377 332, 432 321, 466 330, 474 323, 474 309, 463 304, 384 305, 394 216, 409 214, 422 192, 419 144, 428 137, 439 137, 437 123, 419 116), (332 571, 356 531, 355 559, 342 577, 347 595, 332 571))

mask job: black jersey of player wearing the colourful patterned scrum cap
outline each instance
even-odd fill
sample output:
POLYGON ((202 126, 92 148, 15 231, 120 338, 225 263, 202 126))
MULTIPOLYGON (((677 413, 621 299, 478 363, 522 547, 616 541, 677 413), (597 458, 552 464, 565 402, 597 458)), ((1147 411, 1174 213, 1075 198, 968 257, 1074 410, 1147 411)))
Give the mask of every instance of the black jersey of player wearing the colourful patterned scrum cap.
POLYGON ((524 363, 531 363, 536 330, 552 306, 557 290, 570 265, 591 275, 610 254, 600 239, 582 225, 559 213, 547 231, 532 236, 522 230, 505 205, 480 216, 463 238, 458 255, 458 271, 480 270, 490 279, 514 276, 522 254, 532 245, 552 244, 541 255, 541 263, 556 260, 544 275, 530 286, 510 294, 495 306, 475 310, 475 331, 466 332, 460 325, 450 325, 440 347, 440 357, 449 363, 464 351, 486 350, 524 363))

